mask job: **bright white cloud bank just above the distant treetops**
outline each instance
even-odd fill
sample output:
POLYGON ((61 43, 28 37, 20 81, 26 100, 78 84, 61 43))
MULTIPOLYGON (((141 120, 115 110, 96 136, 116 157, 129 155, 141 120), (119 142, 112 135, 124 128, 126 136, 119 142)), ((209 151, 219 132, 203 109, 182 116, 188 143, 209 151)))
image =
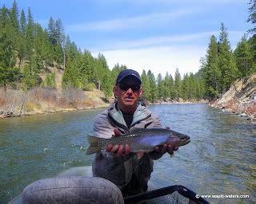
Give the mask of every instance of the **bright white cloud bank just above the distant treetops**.
MULTIPOLYGON (((200 68, 200 57, 206 53, 205 47, 180 45, 180 46, 162 46, 148 49, 122 49, 104 51, 102 54, 106 57, 110 69, 117 63, 126 65, 130 69, 135 69, 139 73, 142 70, 149 69, 157 77, 158 73, 162 76, 166 72, 174 77, 176 68, 180 73, 197 73, 200 68)), ((98 53, 92 53, 97 56, 98 53)))

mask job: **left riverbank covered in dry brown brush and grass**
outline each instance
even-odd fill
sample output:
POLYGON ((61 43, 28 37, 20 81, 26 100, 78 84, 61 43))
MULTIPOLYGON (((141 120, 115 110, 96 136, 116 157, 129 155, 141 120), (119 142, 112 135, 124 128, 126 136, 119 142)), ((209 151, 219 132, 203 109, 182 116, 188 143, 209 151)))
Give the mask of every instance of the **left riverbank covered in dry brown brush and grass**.
POLYGON ((102 98, 102 92, 96 89, 91 92, 74 88, 65 92, 49 88, 0 90, 0 118, 106 108, 109 104, 102 98))

